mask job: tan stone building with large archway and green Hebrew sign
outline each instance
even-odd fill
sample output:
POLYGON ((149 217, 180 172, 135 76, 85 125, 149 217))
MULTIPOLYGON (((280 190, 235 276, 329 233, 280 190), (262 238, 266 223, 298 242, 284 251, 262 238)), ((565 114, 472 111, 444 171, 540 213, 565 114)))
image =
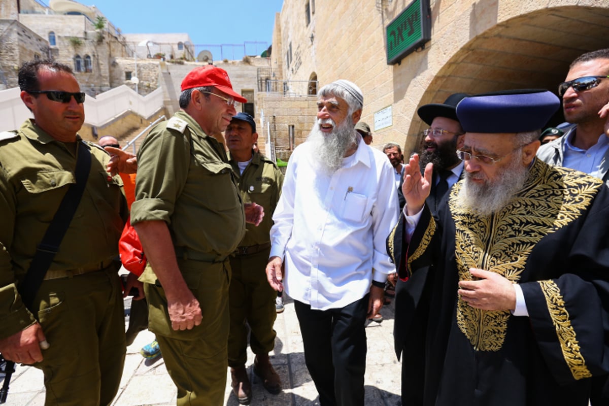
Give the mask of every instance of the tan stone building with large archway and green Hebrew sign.
MULTIPOLYGON (((417 116, 421 105, 442 103, 452 93, 556 91, 574 58, 604 47, 606 0, 285 0, 276 16, 270 76, 287 85, 260 92, 258 105, 276 122, 265 136, 283 149, 290 136, 295 144, 303 141, 314 122, 308 93, 315 80, 323 86, 348 79, 364 92, 362 120, 374 146, 393 141, 409 153, 425 128, 417 116), (420 3, 422 13, 408 10, 420 3), (391 54, 407 41, 418 21, 429 24, 431 39, 388 63, 388 49, 391 54), (283 91, 292 83, 308 86, 295 97, 283 91)), ((551 124, 561 121, 559 111, 551 124)))

